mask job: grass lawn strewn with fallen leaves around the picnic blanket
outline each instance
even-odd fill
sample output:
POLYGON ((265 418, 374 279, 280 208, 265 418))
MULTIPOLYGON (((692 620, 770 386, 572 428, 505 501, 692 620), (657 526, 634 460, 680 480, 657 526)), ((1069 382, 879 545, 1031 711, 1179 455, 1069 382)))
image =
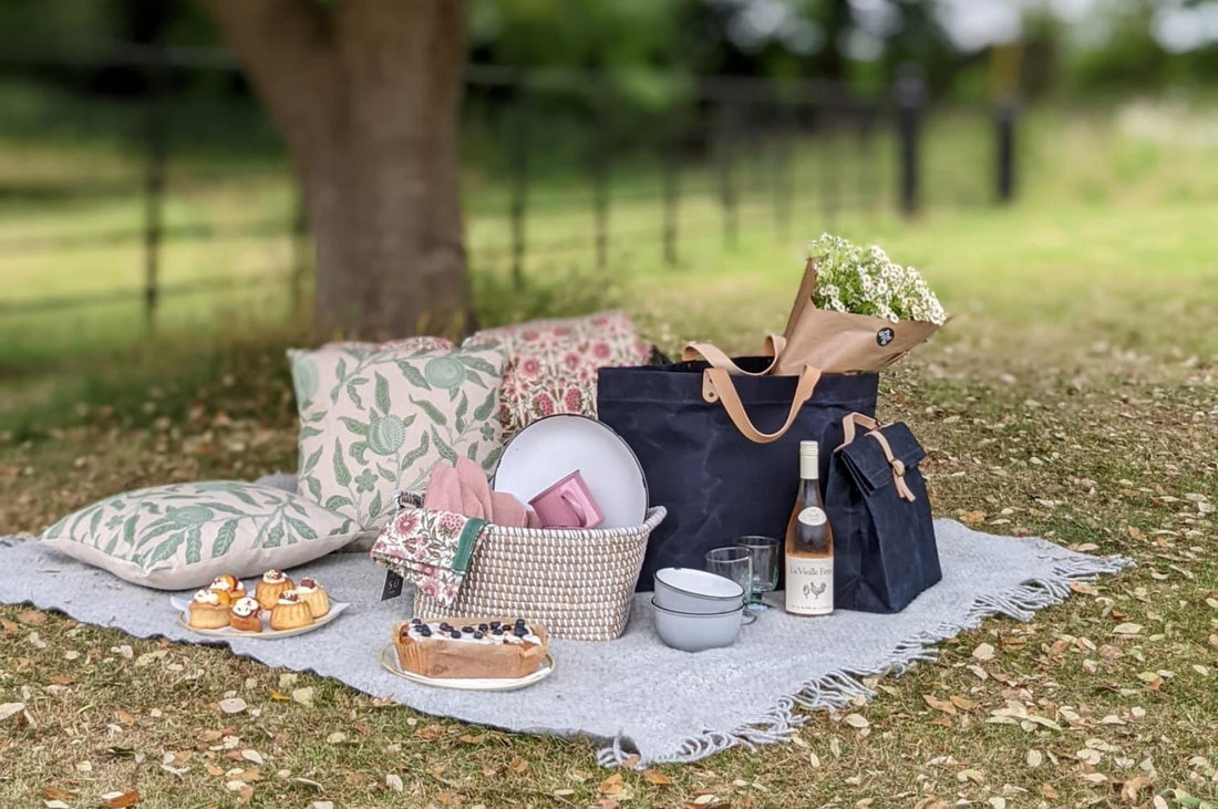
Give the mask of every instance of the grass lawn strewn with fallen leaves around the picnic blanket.
MULTIPOLYGON (((881 400, 928 448, 935 513, 1136 568, 1029 623, 985 622, 934 663, 870 681, 872 703, 810 715, 790 745, 643 774, 598 770, 587 743, 0 607, 0 703, 34 720, 0 724, 0 805, 61 790, 91 807, 129 788, 167 809, 1218 805, 1218 232, 1206 207, 1218 155, 1086 120, 1037 127, 1016 208, 836 227, 923 268, 955 315, 885 373, 881 400), (283 698, 302 687, 311 704, 283 698), (222 713, 229 696, 250 708, 222 713)), ((700 240, 671 270, 627 245, 611 281, 572 259, 531 268, 529 292, 509 298, 502 274, 482 273, 482 309, 490 321, 618 303, 669 348, 710 337, 745 350, 781 327, 799 263, 766 215, 744 221, 734 252, 700 240)), ((815 210, 794 221, 823 229, 815 210)), ((65 361, 50 381, 22 371, 2 394, 0 534, 138 485, 294 467, 281 349, 297 339, 253 324, 88 371, 65 361)))

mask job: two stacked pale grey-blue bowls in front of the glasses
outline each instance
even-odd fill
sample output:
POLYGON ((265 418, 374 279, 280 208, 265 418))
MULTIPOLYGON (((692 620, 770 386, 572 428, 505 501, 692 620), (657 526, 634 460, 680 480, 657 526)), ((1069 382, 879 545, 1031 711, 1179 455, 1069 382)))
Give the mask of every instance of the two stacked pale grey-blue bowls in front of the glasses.
POLYGON ((655 572, 655 631, 666 646, 686 652, 731 646, 741 631, 744 588, 688 567, 655 572))

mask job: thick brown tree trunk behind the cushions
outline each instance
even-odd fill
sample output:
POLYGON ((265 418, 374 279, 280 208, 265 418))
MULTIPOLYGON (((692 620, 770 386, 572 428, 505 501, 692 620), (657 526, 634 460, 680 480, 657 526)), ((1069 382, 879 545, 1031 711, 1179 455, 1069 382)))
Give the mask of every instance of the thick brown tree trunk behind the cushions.
POLYGON ((275 120, 317 240, 315 325, 459 331, 460 0, 205 0, 275 120))

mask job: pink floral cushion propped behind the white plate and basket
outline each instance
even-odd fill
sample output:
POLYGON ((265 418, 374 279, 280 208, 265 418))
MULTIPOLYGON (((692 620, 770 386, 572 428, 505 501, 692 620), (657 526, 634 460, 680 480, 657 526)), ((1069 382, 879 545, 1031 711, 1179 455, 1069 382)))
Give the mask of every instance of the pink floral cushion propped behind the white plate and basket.
POLYGON ((499 408, 504 438, 559 412, 596 416, 597 370, 646 365, 652 353, 621 311, 488 328, 464 344, 492 342, 508 352, 499 408))

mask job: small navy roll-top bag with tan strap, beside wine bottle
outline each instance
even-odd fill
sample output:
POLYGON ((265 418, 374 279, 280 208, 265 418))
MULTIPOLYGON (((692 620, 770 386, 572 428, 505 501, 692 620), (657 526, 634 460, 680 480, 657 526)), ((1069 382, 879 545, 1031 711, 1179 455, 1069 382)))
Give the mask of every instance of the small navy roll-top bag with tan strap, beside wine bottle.
POLYGON ((901 422, 879 427, 853 414, 842 427, 822 478, 833 527, 833 606, 900 612, 943 578, 918 471, 926 451, 901 422))

